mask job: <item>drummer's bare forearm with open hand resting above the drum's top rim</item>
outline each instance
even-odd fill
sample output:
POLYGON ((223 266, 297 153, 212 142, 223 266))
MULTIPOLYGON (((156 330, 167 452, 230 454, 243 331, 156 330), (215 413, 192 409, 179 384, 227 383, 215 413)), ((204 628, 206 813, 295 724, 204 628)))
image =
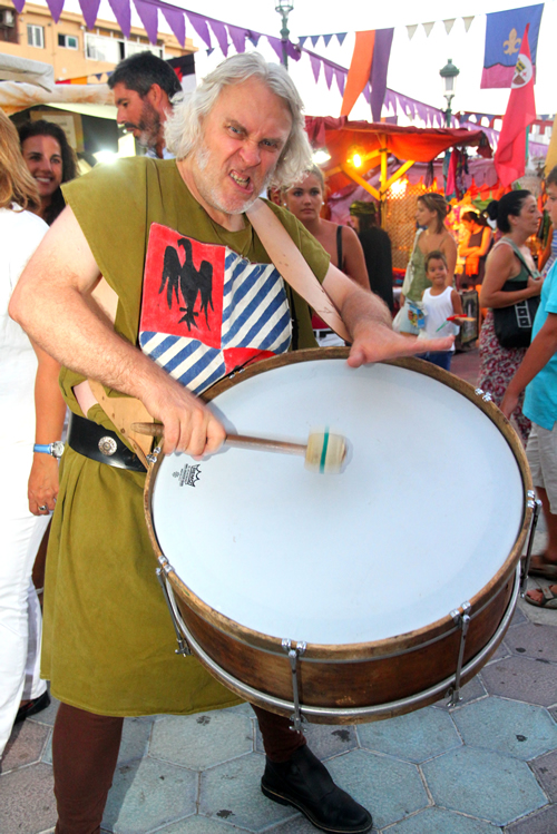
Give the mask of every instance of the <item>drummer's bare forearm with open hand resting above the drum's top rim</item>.
POLYGON ((335 266, 329 267, 323 288, 334 302, 352 336, 352 350, 348 360, 352 367, 427 351, 448 351, 452 345, 452 337, 418 340, 395 333, 389 308, 379 295, 356 286, 335 266))

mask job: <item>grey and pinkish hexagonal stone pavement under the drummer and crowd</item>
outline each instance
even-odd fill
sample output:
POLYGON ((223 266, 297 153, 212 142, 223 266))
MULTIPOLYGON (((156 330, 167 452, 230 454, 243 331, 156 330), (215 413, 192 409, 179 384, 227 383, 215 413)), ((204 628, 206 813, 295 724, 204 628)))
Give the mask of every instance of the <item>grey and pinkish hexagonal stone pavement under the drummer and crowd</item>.
MULTIPOLYGON (((477 355, 457 355, 453 371, 475 382, 477 355)), ((539 552, 543 521, 536 539, 539 552)), ((462 695, 451 709, 439 701, 358 727, 313 725, 309 742, 372 811, 377 832, 557 832, 557 611, 519 602, 504 642, 462 695)), ((56 709, 12 734, 0 766, 0 834, 53 832, 56 709)), ((264 758, 252 716, 243 705, 126 719, 104 834, 314 832, 261 794, 264 758)))

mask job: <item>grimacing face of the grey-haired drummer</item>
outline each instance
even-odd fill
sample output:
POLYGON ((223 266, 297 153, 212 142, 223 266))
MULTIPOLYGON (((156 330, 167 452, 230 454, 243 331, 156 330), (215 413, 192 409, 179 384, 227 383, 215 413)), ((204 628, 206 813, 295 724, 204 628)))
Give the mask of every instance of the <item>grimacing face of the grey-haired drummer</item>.
POLYGON ((225 87, 185 160, 202 205, 225 215, 250 208, 268 184, 291 128, 289 106, 258 79, 225 87))

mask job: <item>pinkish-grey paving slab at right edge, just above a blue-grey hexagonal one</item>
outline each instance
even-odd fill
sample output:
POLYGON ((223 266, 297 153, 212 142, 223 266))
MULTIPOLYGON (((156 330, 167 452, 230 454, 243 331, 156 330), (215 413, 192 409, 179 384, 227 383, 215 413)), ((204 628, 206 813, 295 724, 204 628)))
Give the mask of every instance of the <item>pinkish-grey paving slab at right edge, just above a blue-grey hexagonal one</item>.
POLYGON ((549 707, 557 704, 557 668, 547 660, 516 656, 482 669, 481 678, 491 695, 549 707))

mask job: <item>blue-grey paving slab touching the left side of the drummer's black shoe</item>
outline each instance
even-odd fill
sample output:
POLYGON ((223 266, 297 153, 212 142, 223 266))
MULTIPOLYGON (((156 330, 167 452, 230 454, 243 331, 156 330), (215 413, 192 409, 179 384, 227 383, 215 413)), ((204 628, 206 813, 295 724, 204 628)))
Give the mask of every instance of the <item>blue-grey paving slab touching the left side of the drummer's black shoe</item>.
POLYGON ((201 774, 199 813, 255 833, 294 815, 300 816, 294 808, 263 796, 261 777, 264 767, 264 756, 251 753, 204 771, 201 774))

